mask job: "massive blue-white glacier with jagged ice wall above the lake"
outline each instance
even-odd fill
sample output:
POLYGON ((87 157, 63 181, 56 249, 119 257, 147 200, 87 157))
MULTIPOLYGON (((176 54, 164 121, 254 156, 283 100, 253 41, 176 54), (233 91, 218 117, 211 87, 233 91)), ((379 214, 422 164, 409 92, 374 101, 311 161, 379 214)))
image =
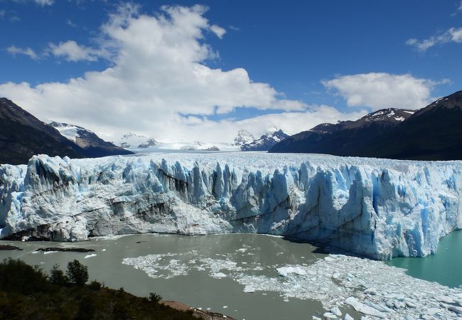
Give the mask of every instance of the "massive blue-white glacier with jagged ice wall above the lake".
POLYGON ((462 161, 302 154, 33 156, 0 166, 0 238, 268 233, 376 259, 462 227, 462 161))

